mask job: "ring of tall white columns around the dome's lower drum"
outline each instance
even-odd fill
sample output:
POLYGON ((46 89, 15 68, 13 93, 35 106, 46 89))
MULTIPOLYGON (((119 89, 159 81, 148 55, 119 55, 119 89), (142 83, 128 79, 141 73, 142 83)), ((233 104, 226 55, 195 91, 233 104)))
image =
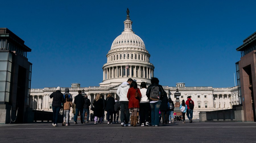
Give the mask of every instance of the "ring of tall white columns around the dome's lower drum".
POLYGON ((148 78, 154 77, 154 68, 141 65, 116 65, 103 69, 103 80, 112 78, 148 78), (128 68, 126 68, 128 66, 128 68))

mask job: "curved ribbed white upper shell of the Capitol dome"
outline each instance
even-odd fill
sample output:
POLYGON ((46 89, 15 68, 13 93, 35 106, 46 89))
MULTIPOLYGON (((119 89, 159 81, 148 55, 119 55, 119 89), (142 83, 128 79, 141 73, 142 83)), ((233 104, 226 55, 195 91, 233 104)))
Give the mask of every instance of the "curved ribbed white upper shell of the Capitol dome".
POLYGON ((119 48, 120 46, 139 46, 145 49, 143 40, 130 31, 124 31, 121 35, 117 36, 112 43, 111 49, 119 48))

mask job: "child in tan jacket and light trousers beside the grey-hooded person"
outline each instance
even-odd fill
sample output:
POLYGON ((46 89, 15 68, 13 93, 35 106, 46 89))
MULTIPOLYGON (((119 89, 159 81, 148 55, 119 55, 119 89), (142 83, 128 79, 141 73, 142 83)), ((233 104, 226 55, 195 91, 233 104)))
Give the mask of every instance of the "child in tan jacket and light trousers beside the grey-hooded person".
POLYGON ((72 102, 69 99, 69 95, 65 95, 64 105, 63 105, 63 125, 66 124, 68 126, 69 124, 69 113, 70 113, 70 107, 73 106, 72 102))

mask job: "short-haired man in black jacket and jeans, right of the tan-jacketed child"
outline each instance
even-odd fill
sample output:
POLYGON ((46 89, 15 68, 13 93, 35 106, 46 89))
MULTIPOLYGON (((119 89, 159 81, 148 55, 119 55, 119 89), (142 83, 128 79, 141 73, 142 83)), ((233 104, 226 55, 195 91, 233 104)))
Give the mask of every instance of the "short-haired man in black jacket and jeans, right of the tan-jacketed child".
POLYGON ((84 108, 84 96, 82 95, 82 91, 79 90, 78 91, 78 95, 75 96, 75 100, 74 103, 76 105, 76 114, 74 117, 74 124, 77 124, 77 116, 80 112, 80 120, 81 120, 81 124, 83 124, 83 119, 82 119, 82 114, 83 114, 83 108, 84 108))

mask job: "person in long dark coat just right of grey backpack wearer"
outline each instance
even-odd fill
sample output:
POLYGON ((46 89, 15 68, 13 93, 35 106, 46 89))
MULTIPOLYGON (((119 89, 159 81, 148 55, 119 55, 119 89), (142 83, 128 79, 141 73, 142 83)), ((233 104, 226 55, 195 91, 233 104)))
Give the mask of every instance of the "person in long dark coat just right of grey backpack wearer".
POLYGON ((164 96, 161 100, 161 105, 160 105, 160 112, 162 116, 162 124, 167 124, 167 112, 168 112, 168 97, 167 93, 164 91, 164 96))

